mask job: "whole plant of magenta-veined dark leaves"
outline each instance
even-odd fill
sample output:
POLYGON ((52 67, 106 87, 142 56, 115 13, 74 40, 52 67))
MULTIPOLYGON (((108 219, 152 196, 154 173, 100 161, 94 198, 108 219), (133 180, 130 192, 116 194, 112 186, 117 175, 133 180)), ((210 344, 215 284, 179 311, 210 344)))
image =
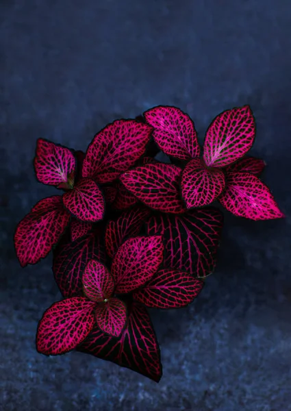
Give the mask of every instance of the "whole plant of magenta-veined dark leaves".
POLYGON ((38 139, 39 182, 63 190, 40 200, 14 236, 21 266, 53 249, 64 299, 38 324, 45 355, 77 349, 158 382, 160 349, 147 307, 181 308, 214 271, 223 214, 277 219, 283 213, 259 178, 265 163, 245 156, 255 121, 248 105, 227 110, 207 129, 158 106, 116 120, 86 153, 38 139), (169 162, 155 159, 161 151, 169 162))

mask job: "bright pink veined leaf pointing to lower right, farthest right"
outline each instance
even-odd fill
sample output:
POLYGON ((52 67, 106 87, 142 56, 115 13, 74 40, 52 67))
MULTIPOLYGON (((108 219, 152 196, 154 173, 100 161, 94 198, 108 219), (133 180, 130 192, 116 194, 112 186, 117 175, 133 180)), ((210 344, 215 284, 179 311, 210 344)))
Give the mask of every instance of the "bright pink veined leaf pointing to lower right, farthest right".
POLYGON ((270 189, 249 173, 228 173, 227 187, 219 201, 232 214, 246 219, 271 220, 284 217, 270 189))

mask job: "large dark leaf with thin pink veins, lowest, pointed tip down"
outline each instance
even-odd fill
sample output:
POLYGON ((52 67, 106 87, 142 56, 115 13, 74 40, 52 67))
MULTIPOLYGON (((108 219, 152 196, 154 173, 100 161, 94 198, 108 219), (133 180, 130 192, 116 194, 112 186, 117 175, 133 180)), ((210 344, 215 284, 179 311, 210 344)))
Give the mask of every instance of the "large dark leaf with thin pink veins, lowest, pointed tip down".
POLYGON ((77 351, 114 362, 159 382, 162 364, 157 338, 147 309, 134 302, 128 309, 128 321, 121 338, 107 336, 96 326, 77 351))

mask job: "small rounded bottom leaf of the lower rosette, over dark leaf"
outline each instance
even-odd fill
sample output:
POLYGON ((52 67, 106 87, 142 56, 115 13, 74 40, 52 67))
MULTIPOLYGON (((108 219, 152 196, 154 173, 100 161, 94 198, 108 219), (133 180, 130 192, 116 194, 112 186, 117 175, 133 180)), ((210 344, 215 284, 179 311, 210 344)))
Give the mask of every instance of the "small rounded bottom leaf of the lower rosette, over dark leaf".
POLYGON ((101 331, 110 336, 120 337, 127 322, 127 308, 118 298, 110 298, 95 309, 95 319, 101 331))

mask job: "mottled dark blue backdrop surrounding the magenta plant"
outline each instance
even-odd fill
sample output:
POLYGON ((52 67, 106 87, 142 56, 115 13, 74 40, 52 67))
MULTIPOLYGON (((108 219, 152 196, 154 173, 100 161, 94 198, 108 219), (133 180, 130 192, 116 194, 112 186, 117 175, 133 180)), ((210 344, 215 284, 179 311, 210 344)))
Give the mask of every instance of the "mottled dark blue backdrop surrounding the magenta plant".
POLYGON ((1 410, 291 410, 290 0, 1 0, 0 23, 1 410), (199 299, 153 312, 160 384, 82 353, 38 354, 38 319, 60 292, 51 257, 21 269, 12 245, 16 222, 55 192, 34 177, 36 138, 86 149, 106 123, 168 104, 202 140, 247 103, 251 153, 287 217, 226 213, 199 299))

